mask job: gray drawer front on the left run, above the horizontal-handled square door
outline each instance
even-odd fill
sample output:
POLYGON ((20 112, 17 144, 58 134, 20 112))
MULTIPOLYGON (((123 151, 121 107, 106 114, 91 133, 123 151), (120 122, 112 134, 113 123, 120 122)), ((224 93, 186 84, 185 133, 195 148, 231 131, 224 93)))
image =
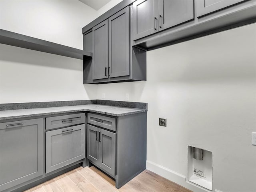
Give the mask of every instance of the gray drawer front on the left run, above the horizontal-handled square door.
POLYGON ((84 113, 62 115, 62 116, 56 116, 56 117, 47 117, 46 130, 64 127, 64 126, 82 124, 85 122, 84 119, 85 119, 84 113))

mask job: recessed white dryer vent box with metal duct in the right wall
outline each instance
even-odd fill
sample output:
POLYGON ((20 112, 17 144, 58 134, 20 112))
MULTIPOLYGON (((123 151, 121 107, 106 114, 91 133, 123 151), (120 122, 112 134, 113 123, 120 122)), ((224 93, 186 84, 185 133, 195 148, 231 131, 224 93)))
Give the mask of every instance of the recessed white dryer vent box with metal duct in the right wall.
POLYGON ((212 190, 212 152, 188 146, 188 181, 212 190))

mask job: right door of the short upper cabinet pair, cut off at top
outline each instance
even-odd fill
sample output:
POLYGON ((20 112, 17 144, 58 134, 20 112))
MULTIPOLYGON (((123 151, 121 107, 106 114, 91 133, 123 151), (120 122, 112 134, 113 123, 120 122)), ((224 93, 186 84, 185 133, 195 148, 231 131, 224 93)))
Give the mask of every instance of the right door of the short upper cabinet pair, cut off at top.
POLYGON ((194 0, 159 0, 159 30, 194 19, 194 0))

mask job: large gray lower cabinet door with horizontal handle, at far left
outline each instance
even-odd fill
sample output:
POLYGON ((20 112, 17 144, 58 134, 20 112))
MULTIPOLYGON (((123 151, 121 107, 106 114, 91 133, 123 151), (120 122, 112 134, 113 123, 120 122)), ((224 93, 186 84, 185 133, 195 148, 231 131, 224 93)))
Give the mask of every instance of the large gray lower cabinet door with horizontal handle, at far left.
POLYGON ((0 124, 0 191, 43 174, 43 119, 0 124))

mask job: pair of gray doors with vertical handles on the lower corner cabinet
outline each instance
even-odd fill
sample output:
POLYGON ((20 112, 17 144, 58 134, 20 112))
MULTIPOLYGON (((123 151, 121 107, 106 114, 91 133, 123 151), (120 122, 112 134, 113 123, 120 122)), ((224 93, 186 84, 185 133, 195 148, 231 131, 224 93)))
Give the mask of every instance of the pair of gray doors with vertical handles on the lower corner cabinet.
POLYGON ((88 124, 87 136, 87 158, 114 177, 116 133, 88 124))

